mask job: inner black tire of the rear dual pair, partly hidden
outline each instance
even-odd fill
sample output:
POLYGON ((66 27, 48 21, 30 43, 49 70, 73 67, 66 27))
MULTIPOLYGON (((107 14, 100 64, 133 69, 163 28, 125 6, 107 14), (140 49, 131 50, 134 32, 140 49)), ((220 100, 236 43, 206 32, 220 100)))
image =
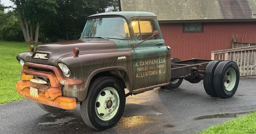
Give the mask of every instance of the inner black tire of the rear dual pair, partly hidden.
POLYGON ((218 97, 213 88, 213 75, 217 65, 220 61, 211 61, 208 63, 204 73, 204 90, 212 97, 218 97))

